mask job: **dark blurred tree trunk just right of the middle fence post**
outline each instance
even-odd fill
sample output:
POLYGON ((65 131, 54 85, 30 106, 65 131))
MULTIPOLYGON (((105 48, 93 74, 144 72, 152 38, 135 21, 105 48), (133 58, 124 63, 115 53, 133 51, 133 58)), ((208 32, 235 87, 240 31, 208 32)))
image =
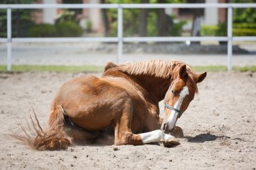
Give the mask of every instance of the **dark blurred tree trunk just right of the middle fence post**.
MULTIPOLYGON (((141 3, 148 3, 149 0, 142 0, 141 3)), ((148 9, 141 9, 139 13, 139 36, 147 36, 148 9)))

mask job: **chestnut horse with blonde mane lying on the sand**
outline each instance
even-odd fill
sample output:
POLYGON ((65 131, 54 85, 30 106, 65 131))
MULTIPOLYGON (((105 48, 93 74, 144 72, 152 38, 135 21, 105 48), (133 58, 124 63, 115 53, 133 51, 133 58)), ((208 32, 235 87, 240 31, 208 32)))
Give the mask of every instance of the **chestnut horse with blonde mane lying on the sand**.
POLYGON ((46 130, 35 114, 36 121, 30 116, 35 135, 22 128, 26 135, 15 137, 39 151, 60 150, 74 141, 97 138, 107 128, 115 136, 115 145, 164 142, 166 147, 175 146, 180 143, 171 132, 206 75, 195 74, 179 60, 108 62, 101 77, 87 75, 62 85, 46 130), (158 106, 163 99, 164 119, 158 106))

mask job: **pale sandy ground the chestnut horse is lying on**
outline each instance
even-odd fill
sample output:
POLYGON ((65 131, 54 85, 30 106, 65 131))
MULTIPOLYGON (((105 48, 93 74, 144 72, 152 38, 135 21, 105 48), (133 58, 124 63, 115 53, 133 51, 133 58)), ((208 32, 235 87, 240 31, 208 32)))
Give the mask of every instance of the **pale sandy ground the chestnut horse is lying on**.
MULTIPOLYGON (((208 73, 177 122, 184 138, 174 148, 72 146, 33 151, 7 134, 18 132, 34 107, 46 124, 62 83, 85 73, 0 73, 0 169, 255 169, 256 73, 208 73)), ((94 73, 100 75, 100 73, 94 73)), ((161 114, 163 105, 160 103, 161 114)))

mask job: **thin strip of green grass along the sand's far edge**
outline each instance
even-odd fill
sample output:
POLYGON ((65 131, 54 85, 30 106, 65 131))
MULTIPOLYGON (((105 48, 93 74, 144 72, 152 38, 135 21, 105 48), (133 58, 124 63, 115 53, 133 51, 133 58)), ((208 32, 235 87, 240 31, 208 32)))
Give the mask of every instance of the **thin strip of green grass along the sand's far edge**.
MULTIPOLYGON (((255 66, 245 66, 245 67, 233 67, 234 71, 251 71, 256 72, 255 66)), ((104 70, 103 66, 96 65, 82 65, 82 66, 65 66, 65 65, 12 65, 11 71, 54 71, 54 72, 64 72, 64 73, 77 73, 77 72, 102 72, 104 70)), ((227 71, 226 66, 195 66, 194 71, 227 71)), ((0 65, 0 71, 7 71, 6 65, 0 65)))

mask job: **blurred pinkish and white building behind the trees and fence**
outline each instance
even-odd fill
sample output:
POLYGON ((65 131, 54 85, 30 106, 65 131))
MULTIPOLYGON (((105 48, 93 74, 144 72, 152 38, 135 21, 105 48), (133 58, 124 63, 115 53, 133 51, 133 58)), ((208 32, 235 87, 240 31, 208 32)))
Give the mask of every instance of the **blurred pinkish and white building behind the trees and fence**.
MULTIPOLYGON (((191 1, 193 2, 193 1, 191 1)), ((191 3, 189 2, 189 3, 191 3)), ((34 3, 100 3, 100 0, 75 0, 75 1, 67 1, 67 0, 41 0, 35 1, 34 3)), ((226 3, 226 0, 205 0, 205 3, 226 3)), ((75 15, 79 19, 79 26, 81 28, 86 29, 86 24, 90 22, 92 26, 92 32, 94 33, 103 33, 104 26, 102 23, 102 14, 100 9, 69 9, 71 11, 75 11, 75 15)), ((166 14, 168 15, 176 15, 177 19, 185 19, 189 22, 183 27, 184 30, 190 32, 193 28, 193 9, 182 9, 182 8, 174 8, 174 9, 166 9, 166 14)), ((197 22, 197 26, 201 24, 205 26, 212 26, 222 22, 226 22, 226 9, 224 8, 205 8, 201 9, 202 14, 195 20, 197 22)), ((38 11, 34 11, 32 13, 32 21, 36 24, 54 24, 57 16, 63 13, 63 9, 39 9, 38 11)), ((196 34, 199 28, 195 28, 196 34)))

